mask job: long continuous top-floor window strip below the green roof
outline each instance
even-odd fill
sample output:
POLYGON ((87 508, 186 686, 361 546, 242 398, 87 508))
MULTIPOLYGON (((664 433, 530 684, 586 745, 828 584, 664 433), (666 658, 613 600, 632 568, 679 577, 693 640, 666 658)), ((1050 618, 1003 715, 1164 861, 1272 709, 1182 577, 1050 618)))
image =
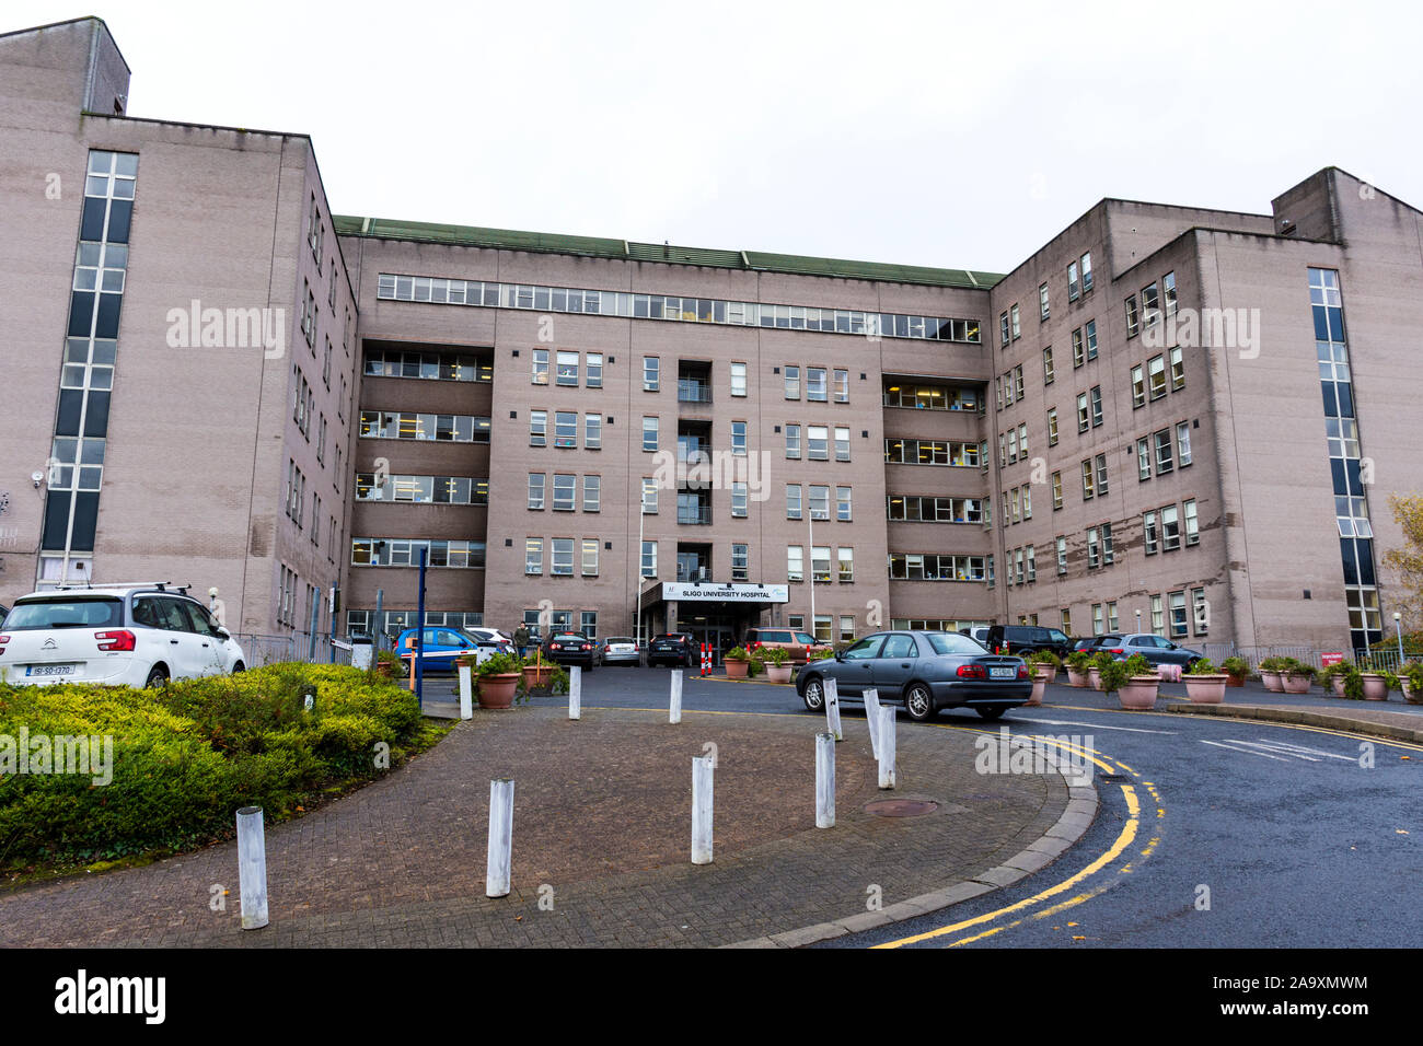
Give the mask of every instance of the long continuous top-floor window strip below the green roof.
POLYGON ((980 342, 978 320, 817 309, 798 305, 760 305, 706 297, 629 295, 615 290, 546 287, 480 280, 435 279, 380 273, 376 296, 394 302, 532 309, 536 312, 622 316, 626 319, 729 323, 781 330, 820 330, 834 334, 911 337, 931 342, 980 342))

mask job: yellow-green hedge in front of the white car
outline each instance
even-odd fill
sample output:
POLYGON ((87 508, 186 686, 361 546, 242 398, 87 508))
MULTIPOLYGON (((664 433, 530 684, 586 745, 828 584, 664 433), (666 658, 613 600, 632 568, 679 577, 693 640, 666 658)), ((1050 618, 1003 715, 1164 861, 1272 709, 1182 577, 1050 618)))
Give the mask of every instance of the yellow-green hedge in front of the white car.
POLYGON ((371 780, 431 736, 407 689, 359 669, 273 665, 131 687, 0 683, 0 734, 111 736, 112 781, 0 776, 0 867, 112 860, 228 838, 233 814, 280 820, 324 791, 371 780), (314 687, 310 712, 303 692, 314 687))

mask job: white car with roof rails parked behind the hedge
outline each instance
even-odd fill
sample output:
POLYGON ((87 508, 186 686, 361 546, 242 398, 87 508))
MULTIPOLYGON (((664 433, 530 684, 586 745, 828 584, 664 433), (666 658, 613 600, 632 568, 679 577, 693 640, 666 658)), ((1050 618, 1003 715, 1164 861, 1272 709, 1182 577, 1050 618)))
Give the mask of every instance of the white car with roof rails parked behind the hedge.
POLYGON ((0 630, 0 677, 16 686, 162 686, 246 670, 242 648, 185 588, 58 588, 18 601, 0 630))

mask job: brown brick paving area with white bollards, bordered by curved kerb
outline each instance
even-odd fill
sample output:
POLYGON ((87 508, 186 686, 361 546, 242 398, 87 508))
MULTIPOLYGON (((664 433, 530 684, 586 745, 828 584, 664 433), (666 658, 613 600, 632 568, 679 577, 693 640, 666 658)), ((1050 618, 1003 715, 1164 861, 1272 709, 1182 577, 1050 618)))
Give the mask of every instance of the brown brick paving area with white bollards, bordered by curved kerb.
MULTIPOLYGON (((268 828, 272 925, 242 932, 236 844, 0 897, 0 946, 714 946, 864 915, 1012 861, 1069 808, 1057 776, 979 776, 975 734, 898 729, 881 793, 864 720, 814 828, 807 714, 478 713, 390 777, 268 828), (717 746, 716 862, 690 864, 690 760, 717 746), (490 780, 514 777, 514 892, 484 897, 490 780), (882 818, 877 798, 939 810, 882 818), (212 911, 213 885, 226 911, 212 911), (541 891, 541 887, 545 889, 541 891), (552 909, 541 909, 551 899, 552 909)), ((1081 790, 1072 798, 1083 801, 1081 790)))

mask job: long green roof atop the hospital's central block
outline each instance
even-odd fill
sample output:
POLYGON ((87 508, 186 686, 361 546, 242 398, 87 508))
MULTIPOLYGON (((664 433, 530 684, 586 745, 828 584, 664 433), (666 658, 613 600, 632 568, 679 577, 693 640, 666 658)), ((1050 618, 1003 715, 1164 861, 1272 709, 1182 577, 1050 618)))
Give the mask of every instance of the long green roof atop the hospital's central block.
POLYGON ((354 218, 332 215, 339 236, 369 239, 403 239, 448 246, 490 248, 494 250, 527 250, 535 253, 573 255, 578 258, 606 258, 625 262, 660 262, 666 265, 699 265, 714 269, 744 272, 783 272, 795 276, 878 280, 884 283, 915 283, 933 287, 988 290, 1002 273, 969 269, 933 269, 921 265, 891 262, 852 262, 841 258, 810 258, 804 255, 766 253, 761 250, 724 250, 716 248, 687 248, 673 243, 636 243, 601 236, 565 236, 549 232, 519 232, 515 229, 484 229, 471 225, 440 225, 434 222, 403 222, 387 218, 354 218))

